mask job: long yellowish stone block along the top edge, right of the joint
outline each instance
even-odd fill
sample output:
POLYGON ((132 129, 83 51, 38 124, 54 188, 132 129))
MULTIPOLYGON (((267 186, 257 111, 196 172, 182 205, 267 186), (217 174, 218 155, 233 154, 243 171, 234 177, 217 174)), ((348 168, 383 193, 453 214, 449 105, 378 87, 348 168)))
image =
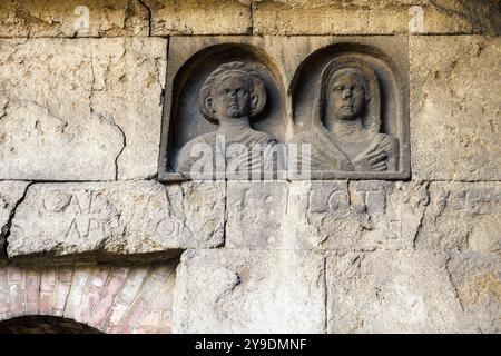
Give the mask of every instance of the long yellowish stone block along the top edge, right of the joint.
POLYGON ((256 34, 499 34, 501 10, 490 0, 264 0, 254 1, 253 30, 256 34), (411 10, 415 6, 422 10, 411 10), (420 13, 423 28, 413 28, 420 13))

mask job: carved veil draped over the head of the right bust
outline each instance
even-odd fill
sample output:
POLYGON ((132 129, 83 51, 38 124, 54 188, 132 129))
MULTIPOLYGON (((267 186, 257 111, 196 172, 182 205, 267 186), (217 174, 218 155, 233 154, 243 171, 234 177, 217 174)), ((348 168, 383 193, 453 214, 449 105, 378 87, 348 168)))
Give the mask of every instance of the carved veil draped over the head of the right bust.
POLYGON ((323 126, 324 108, 326 102, 327 85, 331 78, 341 70, 353 69, 365 80, 365 113, 363 126, 373 134, 381 129, 381 91, 374 69, 363 59, 355 56, 342 56, 333 59, 325 66, 320 76, 317 96, 312 112, 312 123, 323 126))

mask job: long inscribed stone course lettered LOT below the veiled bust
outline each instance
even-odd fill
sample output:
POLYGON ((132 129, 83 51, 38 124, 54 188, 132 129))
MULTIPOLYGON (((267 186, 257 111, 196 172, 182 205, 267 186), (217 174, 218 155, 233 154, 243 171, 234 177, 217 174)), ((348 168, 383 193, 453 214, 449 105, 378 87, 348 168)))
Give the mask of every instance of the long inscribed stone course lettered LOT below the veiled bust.
POLYGON ((228 182, 228 247, 501 249, 498 182, 228 182))

